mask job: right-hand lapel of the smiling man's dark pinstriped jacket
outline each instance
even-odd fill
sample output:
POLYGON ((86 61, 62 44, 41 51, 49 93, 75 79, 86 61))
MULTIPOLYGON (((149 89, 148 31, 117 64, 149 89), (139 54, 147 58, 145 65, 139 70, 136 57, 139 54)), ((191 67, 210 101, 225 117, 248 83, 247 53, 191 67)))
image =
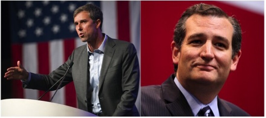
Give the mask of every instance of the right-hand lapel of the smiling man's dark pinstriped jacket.
POLYGON ((221 100, 218 97, 218 109, 219 109, 219 113, 220 116, 232 116, 231 112, 232 112, 232 108, 229 107, 225 101, 221 100))

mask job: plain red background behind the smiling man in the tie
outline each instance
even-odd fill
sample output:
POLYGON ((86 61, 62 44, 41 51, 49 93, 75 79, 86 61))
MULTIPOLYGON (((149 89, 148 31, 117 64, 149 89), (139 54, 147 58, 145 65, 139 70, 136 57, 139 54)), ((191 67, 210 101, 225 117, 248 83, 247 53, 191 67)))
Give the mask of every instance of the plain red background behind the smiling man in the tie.
POLYGON ((242 55, 219 97, 251 116, 264 116, 264 16, 214 1, 141 1, 141 86, 161 85, 174 73, 170 43, 174 26, 191 5, 213 4, 242 28, 242 55))

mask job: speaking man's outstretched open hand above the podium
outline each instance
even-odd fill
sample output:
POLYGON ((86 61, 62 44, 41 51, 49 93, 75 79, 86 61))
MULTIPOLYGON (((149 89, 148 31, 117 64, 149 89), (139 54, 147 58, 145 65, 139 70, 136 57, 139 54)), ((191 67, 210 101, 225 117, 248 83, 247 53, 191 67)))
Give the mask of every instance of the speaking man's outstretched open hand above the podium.
POLYGON ((27 81, 29 73, 21 65, 20 61, 18 61, 17 64, 17 67, 11 67, 7 69, 4 78, 7 78, 7 80, 16 79, 27 81))

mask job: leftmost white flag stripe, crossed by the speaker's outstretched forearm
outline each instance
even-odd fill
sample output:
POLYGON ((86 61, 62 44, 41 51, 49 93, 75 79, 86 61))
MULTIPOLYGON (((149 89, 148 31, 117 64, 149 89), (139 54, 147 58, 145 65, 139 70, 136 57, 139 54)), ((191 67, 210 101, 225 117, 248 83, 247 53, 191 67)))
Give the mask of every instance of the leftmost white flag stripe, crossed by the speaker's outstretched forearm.
MULTIPOLYGON (((22 45, 22 65, 28 72, 38 72, 37 62, 37 44, 36 43, 24 43, 22 45)), ((24 98, 26 99, 38 99, 38 91, 33 89, 24 89, 24 98)))

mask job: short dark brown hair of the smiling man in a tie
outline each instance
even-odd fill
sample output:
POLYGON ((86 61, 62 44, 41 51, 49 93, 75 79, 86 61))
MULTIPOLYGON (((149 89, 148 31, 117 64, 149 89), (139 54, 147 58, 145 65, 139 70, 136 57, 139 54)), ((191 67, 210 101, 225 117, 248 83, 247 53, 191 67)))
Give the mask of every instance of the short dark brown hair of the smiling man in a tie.
MULTIPOLYGON (((174 42, 177 48, 181 49, 183 40, 186 35, 186 21, 193 14, 201 16, 215 16, 219 18, 227 18, 233 26, 233 37, 232 37, 232 59, 241 49, 242 31, 238 21, 228 16, 222 9, 214 5, 208 5, 204 3, 196 4, 187 8, 182 14, 181 18, 177 22, 174 29, 174 42)), ((177 72, 177 64, 174 64, 174 71, 177 72)))

